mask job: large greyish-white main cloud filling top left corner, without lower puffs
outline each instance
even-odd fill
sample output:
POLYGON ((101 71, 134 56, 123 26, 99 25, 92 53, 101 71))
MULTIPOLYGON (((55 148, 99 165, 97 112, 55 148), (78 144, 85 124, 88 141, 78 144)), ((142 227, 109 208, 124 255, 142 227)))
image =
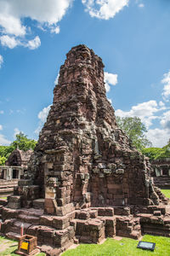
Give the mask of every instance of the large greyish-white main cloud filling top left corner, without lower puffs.
POLYGON ((22 24, 26 17, 42 26, 56 26, 63 18, 72 0, 0 0, 0 26, 3 33, 15 36, 26 35, 22 24))

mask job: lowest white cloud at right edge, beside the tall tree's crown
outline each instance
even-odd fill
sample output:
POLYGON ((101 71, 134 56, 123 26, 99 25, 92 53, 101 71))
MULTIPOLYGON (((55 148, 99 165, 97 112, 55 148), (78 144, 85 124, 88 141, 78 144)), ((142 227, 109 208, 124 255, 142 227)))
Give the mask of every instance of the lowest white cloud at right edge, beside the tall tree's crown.
POLYGON ((167 129, 150 129, 146 136, 153 144, 154 147, 162 148, 167 145, 167 142, 170 138, 170 131, 167 129))

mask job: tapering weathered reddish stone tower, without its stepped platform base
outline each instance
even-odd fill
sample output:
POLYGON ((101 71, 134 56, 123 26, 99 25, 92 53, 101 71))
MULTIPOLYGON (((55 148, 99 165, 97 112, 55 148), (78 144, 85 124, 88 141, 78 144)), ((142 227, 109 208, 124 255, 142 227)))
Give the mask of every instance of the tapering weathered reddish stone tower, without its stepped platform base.
POLYGON ((78 45, 66 55, 54 102, 31 160, 47 213, 158 204, 144 156, 117 127, 105 96, 104 64, 78 45))

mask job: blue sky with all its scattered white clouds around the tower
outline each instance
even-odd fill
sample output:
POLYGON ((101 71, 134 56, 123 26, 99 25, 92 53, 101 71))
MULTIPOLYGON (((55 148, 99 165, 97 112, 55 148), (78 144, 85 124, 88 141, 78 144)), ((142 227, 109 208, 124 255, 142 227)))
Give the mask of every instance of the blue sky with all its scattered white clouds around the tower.
POLYGON ((0 0, 0 145, 38 138, 65 54, 86 44, 105 64, 116 115, 139 116, 155 147, 170 138, 170 2, 0 0))

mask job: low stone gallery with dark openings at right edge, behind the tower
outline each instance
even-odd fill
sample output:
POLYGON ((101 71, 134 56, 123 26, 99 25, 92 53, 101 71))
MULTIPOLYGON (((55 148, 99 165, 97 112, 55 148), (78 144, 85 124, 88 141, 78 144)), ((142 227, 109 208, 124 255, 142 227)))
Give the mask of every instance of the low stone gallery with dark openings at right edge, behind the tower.
POLYGON ((151 166, 154 183, 161 189, 170 189, 170 158, 152 160, 151 166))

